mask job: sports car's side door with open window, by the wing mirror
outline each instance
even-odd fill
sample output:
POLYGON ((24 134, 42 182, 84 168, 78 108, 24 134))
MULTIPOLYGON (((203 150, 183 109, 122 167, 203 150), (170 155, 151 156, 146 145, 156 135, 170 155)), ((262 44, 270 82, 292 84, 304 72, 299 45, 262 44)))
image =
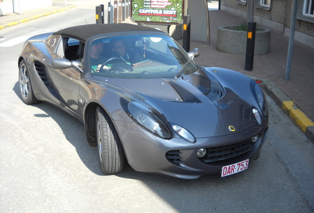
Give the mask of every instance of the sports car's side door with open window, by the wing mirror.
MULTIPOLYGON (((79 40, 74 38, 62 37, 53 59, 67 58, 70 61, 79 59, 77 55, 79 40)), ((81 72, 75 68, 64 70, 55 70, 48 67, 48 75, 53 90, 59 96, 61 101, 82 117, 79 110, 79 84, 81 81, 81 72)))

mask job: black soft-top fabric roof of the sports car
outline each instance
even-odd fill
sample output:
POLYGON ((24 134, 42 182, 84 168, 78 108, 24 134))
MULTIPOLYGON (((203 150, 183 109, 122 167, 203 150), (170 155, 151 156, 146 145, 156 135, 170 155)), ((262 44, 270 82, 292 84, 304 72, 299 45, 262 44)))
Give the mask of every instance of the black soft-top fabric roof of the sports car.
POLYGON ((154 28, 138 26, 133 24, 89 24, 80 25, 75 27, 66 28, 60 30, 53 35, 61 35, 66 37, 77 38, 81 41, 86 42, 88 38, 93 36, 98 36, 102 34, 110 33, 123 33, 123 32, 136 32, 136 31, 146 31, 146 32, 161 32, 154 28))

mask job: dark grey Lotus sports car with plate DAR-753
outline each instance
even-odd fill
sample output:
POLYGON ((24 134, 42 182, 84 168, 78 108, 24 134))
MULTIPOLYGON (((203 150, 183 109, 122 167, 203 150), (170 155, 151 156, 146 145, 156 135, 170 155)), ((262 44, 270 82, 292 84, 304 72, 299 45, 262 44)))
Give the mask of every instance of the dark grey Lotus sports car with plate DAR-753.
POLYGON ((222 177, 256 160, 268 131, 259 85, 196 65, 166 33, 91 24, 29 38, 18 59, 25 104, 57 106, 84 123, 100 169, 222 177))

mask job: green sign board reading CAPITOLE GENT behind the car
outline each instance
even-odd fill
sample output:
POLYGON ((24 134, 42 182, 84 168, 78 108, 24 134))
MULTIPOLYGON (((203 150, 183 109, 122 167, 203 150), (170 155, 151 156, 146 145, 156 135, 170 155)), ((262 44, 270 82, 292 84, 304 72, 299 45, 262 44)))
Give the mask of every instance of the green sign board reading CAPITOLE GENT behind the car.
POLYGON ((135 22, 178 24, 184 16, 184 0, 131 0, 135 22))

